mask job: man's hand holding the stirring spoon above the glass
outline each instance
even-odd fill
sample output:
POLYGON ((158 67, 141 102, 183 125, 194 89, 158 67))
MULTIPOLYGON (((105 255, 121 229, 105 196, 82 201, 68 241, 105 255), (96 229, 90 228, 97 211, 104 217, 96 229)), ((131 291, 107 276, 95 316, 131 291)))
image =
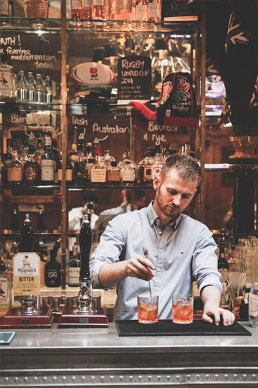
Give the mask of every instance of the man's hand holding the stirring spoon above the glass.
POLYGON ((155 269, 152 262, 142 255, 135 255, 131 259, 125 260, 125 273, 127 276, 148 281, 154 277, 151 269, 155 269))

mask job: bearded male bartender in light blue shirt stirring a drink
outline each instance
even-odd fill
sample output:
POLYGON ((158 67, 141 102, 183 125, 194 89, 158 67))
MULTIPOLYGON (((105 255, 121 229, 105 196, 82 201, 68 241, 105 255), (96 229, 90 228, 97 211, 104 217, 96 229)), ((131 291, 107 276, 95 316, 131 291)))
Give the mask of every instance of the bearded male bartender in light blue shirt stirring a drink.
POLYGON ((202 319, 232 325, 235 316, 220 308, 222 279, 217 245, 206 225, 182 214, 200 184, 201 170, 189 155, 168 157, 153 179, 155 200, 140 211, 117 216, 105 229, 90 262, 92 284, 119 284, 116 319, 137 319, 137 296, 159 296, 159 319, 171 319, 172 295, 189 295, 193 277, 204 303, 202 319), (148 258, 142 253, 147 248, 148 258))

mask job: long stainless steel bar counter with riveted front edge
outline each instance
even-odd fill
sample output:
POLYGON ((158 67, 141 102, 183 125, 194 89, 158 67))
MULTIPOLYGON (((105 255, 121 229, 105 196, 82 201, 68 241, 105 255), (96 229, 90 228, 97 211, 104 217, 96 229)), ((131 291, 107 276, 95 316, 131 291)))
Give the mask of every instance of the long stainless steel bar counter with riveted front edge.
POLYGON ((1 387, 258 387, 258 330, 241 324, 252 336, 119 337, 115 323, 14 330, 1 387))

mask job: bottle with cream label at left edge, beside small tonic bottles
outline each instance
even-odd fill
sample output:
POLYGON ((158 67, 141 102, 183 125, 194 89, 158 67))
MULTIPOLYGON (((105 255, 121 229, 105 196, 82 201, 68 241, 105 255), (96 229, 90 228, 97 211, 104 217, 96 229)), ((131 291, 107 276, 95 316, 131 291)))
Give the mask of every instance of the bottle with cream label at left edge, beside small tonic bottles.
POLYGON ((12 98, 13 93, 13 74, 12 66, 7 64, 6 53, 1 54, 1 65, 0 65, 0 97, 1 100, 12 98))

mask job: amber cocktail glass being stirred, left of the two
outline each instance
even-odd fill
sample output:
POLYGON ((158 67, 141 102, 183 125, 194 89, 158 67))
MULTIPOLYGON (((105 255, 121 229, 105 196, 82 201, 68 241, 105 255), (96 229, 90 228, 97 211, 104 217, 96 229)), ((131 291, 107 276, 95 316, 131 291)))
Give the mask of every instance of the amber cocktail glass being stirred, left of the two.
POLYGON ((158 322, 158 297, 137 297, 138 322, 158 322))

